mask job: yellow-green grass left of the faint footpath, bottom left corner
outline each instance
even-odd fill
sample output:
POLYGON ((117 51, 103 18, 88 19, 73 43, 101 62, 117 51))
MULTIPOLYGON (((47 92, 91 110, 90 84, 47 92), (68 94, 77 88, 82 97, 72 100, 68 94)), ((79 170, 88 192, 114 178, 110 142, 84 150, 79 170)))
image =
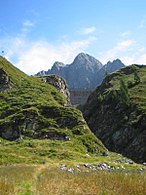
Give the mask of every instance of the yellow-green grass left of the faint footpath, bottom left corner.
POLYGON ((13 165, 0 168, 0 195, 31 194, 35 166, 13 165))

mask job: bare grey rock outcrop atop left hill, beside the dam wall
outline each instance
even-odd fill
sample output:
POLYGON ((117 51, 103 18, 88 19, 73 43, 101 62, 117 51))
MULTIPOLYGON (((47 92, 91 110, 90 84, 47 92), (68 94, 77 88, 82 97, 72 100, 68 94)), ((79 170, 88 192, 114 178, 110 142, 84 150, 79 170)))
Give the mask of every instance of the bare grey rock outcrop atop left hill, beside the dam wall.
POLYGON ((53 85, 57 90, 59 90, 66 98, 68 103, 70 103, 70 93, 66 81, 59 75, 48 75, 44 76, 43 80, 51 85, 53 85))

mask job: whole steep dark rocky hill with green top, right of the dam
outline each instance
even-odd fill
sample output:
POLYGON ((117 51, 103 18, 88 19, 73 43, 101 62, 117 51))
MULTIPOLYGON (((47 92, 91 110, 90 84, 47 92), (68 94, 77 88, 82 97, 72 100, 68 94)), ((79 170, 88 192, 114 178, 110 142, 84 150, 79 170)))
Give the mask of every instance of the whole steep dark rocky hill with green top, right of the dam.
POLYGON ((146 66, 129 66, 108 75, 90 95, 84 117, 105 146, 146 162, 146 66))

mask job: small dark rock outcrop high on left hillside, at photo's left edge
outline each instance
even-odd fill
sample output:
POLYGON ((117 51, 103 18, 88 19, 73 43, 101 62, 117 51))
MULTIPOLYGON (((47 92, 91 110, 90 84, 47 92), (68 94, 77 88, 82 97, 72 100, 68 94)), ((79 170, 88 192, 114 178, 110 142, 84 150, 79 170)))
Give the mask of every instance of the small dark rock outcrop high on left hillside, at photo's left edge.
POLYGON ((4 71, 3 68, 0 68, 0 92, 8 91, 12 88, 12 82, 4 71))

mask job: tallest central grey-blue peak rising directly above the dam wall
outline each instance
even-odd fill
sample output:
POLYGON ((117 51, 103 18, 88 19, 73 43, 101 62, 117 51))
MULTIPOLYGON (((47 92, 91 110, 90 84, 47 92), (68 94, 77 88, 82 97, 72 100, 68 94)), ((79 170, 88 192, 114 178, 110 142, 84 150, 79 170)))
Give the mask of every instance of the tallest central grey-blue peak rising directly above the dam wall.
POLYGON ((69 88, 89 89, 96 87, 96 76, 102 63, 88 54, 80 53, 68 66, 67 83, 69 88))

